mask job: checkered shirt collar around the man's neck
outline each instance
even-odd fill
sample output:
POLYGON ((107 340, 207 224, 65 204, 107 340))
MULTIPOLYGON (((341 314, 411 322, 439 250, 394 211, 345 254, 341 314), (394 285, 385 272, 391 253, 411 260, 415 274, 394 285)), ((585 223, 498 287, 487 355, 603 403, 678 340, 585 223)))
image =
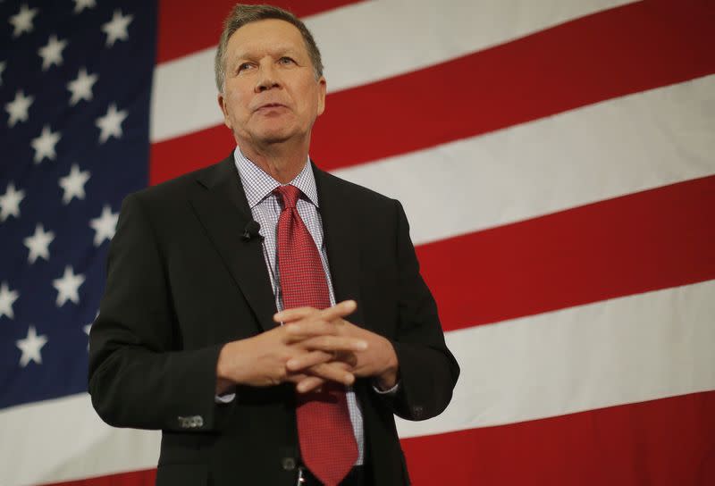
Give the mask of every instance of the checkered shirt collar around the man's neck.
MULTIPOLYGON (((243 185, 243 190, 246 192, 248 207, 251 209, 269 196, 273 189, 281 185, 278 180, 273 179, 243 155, 239 147, 236 147, 233 151, 233 160, 239 170, 240 181, 243 185)), ((303 170, 289 184, 300 189, 307 197, 307 200, 315 207, 320 207, 318 205, 318 191, 315 187, 315 175, 310 166, 310 158, 307 158, 303 170)))

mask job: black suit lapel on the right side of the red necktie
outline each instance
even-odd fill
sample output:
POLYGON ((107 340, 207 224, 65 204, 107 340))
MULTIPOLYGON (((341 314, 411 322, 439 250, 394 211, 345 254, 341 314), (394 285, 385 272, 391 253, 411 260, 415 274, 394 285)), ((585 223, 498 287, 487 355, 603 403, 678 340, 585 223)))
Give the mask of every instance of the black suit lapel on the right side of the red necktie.
POLYGON ((338 179, 319 170, 315 164, 313 172, 335 300, 341 302, 349 298, 354 299, 357 302, 357 310, 349 317, 349 321, 368 328, 363 319, 360 300, 360 248, 355 238, 356 219, 352 217, 353 206, 341 193, 338 179))

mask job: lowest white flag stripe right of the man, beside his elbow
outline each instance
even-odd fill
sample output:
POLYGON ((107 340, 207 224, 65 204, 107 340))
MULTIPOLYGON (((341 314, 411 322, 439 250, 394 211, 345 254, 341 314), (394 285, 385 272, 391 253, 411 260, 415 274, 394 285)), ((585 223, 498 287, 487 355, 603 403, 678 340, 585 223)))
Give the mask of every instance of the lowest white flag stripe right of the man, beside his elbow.
POLYGON ((707 281, 451 331, 454 398, 400 437, 715 390, 713 295, 707 281))

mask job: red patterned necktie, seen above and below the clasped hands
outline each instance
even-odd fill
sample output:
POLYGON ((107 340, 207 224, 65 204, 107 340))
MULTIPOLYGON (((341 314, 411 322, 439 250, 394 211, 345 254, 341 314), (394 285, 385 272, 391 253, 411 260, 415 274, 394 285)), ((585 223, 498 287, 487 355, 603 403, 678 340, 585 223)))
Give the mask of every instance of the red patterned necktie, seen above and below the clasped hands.
MULTIPOLYGON (((283 200, 283 211, 278 218, 278 270, 283 307, 329 307, 328 282, 320 254, 296 209, 300 190, 289 185, 273 192, 283 200)), ((321 392, 299 393, 297 400, 303 462, 326 485, 338 484, 357 460, 345 389, 338 383, 326 383, 321 392)))

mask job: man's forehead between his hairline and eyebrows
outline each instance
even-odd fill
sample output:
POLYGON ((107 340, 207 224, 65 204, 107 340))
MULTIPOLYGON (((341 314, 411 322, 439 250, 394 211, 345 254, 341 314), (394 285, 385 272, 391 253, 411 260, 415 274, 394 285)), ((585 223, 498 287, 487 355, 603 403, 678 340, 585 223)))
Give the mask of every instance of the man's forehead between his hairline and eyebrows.
POLYGON ((307 51, 299 29, 290 22, 280 19, 249 22, 233 32, 228 44, 234 55, 253 54, 256 51, 266 50, 307 51))

